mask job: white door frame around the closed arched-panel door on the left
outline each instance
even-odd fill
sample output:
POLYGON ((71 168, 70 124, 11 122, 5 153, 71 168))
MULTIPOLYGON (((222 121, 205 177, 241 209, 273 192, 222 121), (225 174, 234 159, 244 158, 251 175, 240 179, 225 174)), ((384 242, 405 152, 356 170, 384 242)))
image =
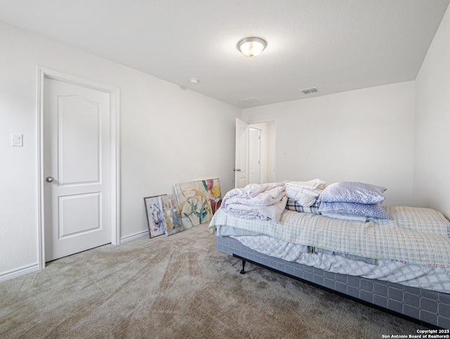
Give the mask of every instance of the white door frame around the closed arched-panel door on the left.
POLYGON ((111 243, 120 243, 120 90, 105 84, 75 77, 56 70, 37 66, 37 213, 38 213, 38 269, 45 267, 44 238, 44 78, 96 89, 110 94, 111 112, 111 243))

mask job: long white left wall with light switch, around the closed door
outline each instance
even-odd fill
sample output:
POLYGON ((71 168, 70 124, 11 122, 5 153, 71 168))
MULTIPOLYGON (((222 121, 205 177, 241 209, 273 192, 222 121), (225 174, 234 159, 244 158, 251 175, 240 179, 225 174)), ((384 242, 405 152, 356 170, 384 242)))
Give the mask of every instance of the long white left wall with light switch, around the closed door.
POLYGON ((122 239, 147 231, 145 196, 212 177, 233 188, 240 109, 4 23, 0 46, 0 279, 38 262, 37 65, 120 88, 122 239))

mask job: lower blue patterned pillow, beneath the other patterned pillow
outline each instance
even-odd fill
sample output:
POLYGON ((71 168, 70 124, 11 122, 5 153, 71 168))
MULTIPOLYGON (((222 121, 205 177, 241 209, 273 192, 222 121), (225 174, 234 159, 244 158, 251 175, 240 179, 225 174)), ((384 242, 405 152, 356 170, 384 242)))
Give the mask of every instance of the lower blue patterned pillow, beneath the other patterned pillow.
POLYGON ((363 217, 390 219, 381 203, 327 203, 322 201, 319 206, 319 212, 345 213, 347 215, 361 215, 363 217))

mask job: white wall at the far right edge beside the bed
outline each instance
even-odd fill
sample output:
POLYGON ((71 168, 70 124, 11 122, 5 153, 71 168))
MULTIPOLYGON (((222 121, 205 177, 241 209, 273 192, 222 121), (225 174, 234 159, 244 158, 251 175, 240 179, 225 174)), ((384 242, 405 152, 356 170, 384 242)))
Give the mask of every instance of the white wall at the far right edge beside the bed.
POLYGON ((414 202, 450 218, 450 8, 416 78, 414 202))

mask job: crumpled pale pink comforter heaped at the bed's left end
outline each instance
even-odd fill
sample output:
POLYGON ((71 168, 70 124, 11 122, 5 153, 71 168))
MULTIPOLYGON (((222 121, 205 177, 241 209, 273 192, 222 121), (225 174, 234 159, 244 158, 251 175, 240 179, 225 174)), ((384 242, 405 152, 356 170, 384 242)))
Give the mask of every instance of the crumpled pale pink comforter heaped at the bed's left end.
POLYGON ((278 222, 287 200, 283 182, 250 184, 226 193, 220 210, 245 219, 278 222))

